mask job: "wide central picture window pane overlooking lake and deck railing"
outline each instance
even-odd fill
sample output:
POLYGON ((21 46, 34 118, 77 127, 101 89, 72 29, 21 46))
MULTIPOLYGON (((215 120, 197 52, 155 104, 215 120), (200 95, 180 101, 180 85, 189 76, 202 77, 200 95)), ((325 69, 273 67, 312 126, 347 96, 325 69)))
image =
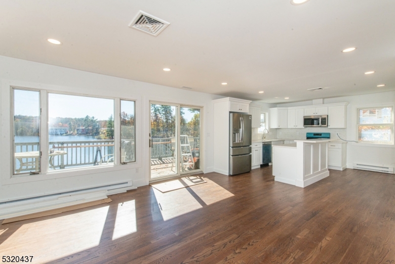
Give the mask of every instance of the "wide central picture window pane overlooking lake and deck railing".
POLYGON ((48 94, 49 171, 114 164, 114 100, 48 94))

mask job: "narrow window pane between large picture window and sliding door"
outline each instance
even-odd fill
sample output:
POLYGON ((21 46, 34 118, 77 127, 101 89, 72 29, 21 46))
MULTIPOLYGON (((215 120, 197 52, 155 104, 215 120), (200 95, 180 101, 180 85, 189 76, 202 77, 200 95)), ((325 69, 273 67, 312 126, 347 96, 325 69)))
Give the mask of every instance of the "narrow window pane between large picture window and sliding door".
POLYGON ((135 102, 120 100, 120 162, 136 161, 135 102))

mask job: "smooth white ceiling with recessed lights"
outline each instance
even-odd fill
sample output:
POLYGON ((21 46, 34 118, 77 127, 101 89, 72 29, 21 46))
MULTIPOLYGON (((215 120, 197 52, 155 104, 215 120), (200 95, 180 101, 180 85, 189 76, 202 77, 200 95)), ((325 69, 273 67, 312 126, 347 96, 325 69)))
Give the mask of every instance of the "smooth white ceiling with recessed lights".
POLYGON ((394 10, 394 0, 1 0, 0 55, 268 103, 365 94, 395 90, 394 10), (157 37, 129 28, 139 10, 170 25, 157 37))

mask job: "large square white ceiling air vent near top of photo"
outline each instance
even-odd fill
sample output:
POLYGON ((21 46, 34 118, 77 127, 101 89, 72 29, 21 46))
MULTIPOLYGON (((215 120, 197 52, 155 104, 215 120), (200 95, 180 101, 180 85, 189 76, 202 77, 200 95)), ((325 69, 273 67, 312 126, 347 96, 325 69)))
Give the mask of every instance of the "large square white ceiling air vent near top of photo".
POLYGON ((141 10, 133 18, 132 22, 129 23, 129 27, 155 37, 158 36, 159 33, 162 32, 162 30, 164 30, 168 25, 170 25, 169 22, 166 22, 141 10))

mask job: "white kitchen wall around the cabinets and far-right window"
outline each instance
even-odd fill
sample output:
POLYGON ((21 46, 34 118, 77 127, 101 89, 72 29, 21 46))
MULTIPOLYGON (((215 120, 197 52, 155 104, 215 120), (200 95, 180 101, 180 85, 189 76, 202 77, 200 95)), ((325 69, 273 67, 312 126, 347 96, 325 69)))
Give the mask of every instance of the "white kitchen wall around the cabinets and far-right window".
MULTIPOLYGON (((356 134, 356 109, 360 107, 375 107, 395 104, 395 91, 370 93, 356 96, 344 96, 324 99, 324 104, 349 102, 347 106, 347 129, 325 129, 319 128, 317 132, 330 132, 331 138, 336 138, 336 133, 346 140, 357 140, 356 134)), ((312 105, 312 101, 296 102, 278 104, 278 107, 293 107, 312 105)), ((290 139, 297 139, 301 137, 301 133, 296 135, 296 132, 303 132, 305 138, 306 132, 315 131, 314 128, 309 129, 277 129, 278 138, 291 137, 290 139), (279 134, 281 132, 281 134, 279 134)), ((363 143, 347 143, 347 167, 352 168, 353 163, 363 163, 377 166, 394 166, 395 165, 395 147, 392 146, 378 146, 363 143)))

